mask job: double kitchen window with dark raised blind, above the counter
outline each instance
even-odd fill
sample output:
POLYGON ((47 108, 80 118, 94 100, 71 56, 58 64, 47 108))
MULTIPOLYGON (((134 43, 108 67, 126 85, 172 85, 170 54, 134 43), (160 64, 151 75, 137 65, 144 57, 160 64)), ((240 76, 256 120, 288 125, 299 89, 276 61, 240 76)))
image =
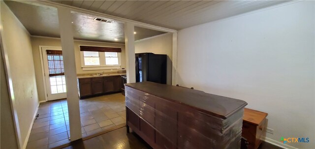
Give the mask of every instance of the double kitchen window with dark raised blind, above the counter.
POLYGON ((118 69, 121 48, 80 46, 83 70, 118 69))

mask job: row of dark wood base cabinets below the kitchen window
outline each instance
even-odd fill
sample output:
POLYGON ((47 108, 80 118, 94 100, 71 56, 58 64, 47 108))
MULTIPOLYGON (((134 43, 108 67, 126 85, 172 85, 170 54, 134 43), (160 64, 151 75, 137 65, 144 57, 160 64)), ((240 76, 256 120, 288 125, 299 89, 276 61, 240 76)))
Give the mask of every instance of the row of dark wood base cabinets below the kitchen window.
POLYGON ((121 76, 106 76, 78 79, 79 96, 101 95, 104 93, 121 91, 121 76))

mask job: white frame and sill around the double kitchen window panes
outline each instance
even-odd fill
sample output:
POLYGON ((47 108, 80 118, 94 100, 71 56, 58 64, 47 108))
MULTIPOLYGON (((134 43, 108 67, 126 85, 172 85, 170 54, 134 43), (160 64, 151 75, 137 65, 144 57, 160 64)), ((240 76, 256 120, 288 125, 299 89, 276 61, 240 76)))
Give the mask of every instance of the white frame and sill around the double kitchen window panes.
POLYGON ((82 70, 102 70, 102 69, 119 69, 121 68, 121 52, 117 52, 118 64, 106 65, 105 52, 98 52, 100 65, 85 65, 83 51, 80 51, 82 70))

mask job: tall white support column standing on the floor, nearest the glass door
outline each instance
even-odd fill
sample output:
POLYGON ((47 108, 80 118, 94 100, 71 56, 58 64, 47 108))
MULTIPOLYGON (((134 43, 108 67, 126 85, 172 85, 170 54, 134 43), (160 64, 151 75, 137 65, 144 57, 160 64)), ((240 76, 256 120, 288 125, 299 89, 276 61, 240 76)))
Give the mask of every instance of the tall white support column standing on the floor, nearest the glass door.
POLYGON ((77 72, 75 67, 74 44, 72 33, 72 16, 67 8, 58 8, 61 46, 63 49, 63 66, 65 84, 67 89, 67 102, 70 125, 70 140, 82 138, 81 120, 79 108, 79 96, 77 88, 77 72))

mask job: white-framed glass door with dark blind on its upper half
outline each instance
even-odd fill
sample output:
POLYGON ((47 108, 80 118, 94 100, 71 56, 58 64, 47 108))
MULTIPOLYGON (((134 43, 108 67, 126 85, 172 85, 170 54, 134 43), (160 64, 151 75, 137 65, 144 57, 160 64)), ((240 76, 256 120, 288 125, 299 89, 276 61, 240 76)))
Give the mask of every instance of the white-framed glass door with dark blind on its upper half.
POLYGON ((42 47, 41 50, 47 100, 66 98, 62 49, 42 47))

